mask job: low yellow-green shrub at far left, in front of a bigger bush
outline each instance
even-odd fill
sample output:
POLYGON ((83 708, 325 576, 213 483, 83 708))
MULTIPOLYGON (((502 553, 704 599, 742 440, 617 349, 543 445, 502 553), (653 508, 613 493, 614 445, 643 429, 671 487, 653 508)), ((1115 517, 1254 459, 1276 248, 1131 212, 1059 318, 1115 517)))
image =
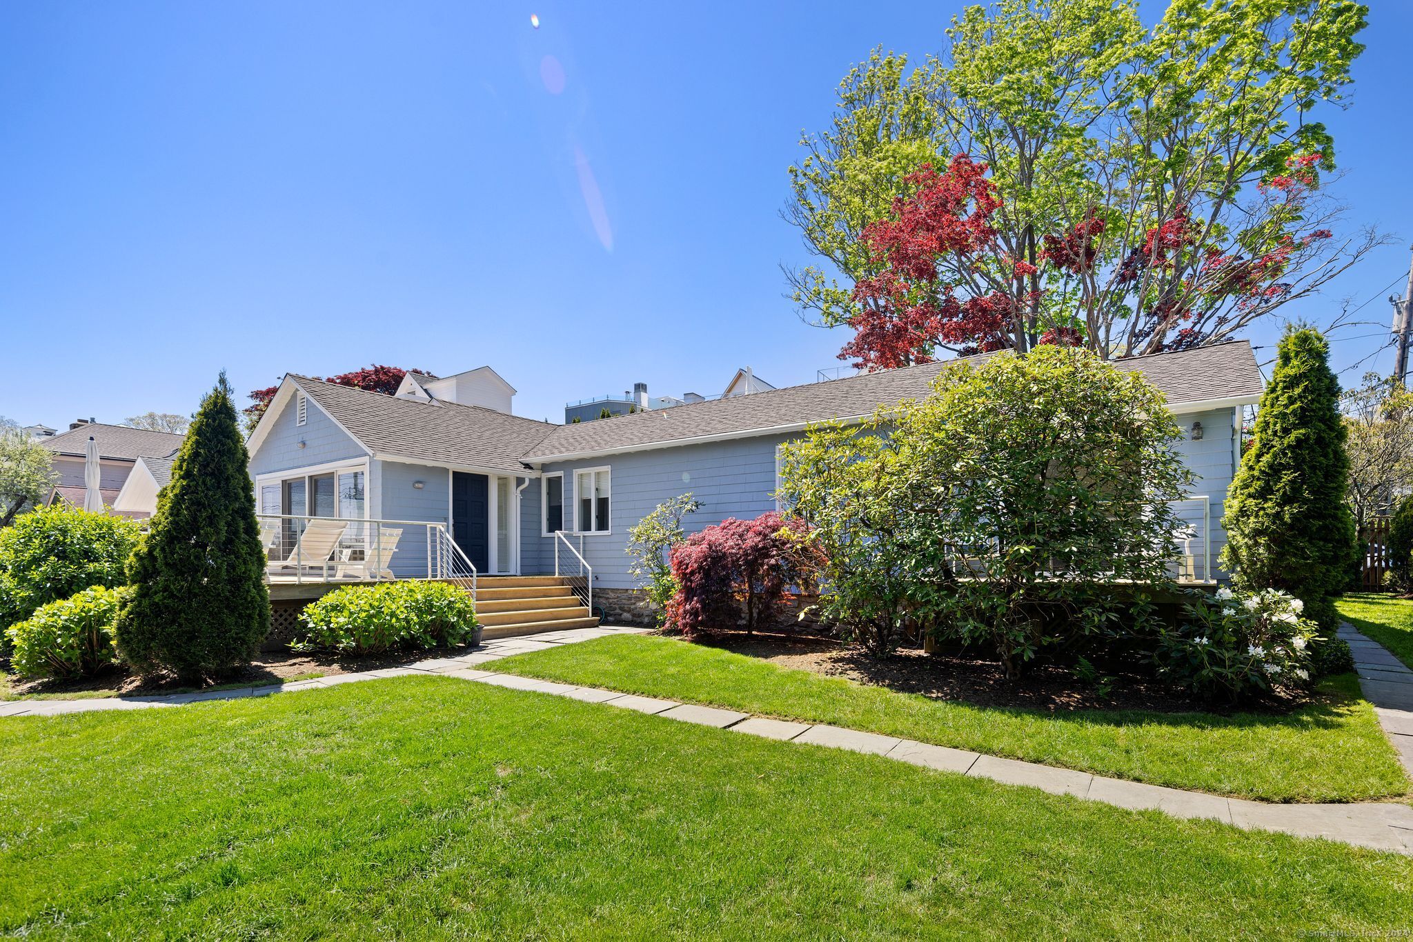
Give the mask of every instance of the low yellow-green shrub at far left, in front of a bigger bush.
POLYGON ((129 589, 93 586, 49 602, 6 631, 23 676, 92 676, 117 660, 113 620, 129 589))

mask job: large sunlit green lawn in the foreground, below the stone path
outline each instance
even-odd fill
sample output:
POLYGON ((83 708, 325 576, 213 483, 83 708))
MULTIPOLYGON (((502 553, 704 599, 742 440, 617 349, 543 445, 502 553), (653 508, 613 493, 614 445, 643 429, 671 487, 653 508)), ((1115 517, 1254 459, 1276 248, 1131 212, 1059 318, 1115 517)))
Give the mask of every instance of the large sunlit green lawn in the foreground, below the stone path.
POLYGON ((0 720, 0 934, 1372 934, 1413 860, 454 678, 0 720))

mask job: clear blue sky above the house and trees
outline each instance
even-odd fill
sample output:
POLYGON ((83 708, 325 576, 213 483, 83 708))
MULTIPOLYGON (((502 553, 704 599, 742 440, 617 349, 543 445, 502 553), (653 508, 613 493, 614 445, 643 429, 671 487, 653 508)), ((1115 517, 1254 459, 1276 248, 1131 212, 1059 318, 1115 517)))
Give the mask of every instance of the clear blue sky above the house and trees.
MULTIPOLYGON (((784 298, 798 134, 961 6, 7 3, 0 415, 191 412, 220 369, 243 393, 373 362, 489 363, 552 421, 637 380, 810 381, 845 336, 784 298)), ((1407 271, 1410 31, 1378 4, 1324 116, 1349 225, 1399 234, 1301 309, 1375 298, 1337 369, 1407 271)))

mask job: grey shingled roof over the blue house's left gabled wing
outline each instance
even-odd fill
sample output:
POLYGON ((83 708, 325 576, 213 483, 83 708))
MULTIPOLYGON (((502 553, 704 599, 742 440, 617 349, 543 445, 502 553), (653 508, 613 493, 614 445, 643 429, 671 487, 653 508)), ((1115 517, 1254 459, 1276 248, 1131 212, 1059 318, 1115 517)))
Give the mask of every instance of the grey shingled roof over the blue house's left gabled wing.
POLYGON ((290 378, 377 458, 524 473, 520 455, 558 428, 480 405, 432 405, 302 376, 290 378))

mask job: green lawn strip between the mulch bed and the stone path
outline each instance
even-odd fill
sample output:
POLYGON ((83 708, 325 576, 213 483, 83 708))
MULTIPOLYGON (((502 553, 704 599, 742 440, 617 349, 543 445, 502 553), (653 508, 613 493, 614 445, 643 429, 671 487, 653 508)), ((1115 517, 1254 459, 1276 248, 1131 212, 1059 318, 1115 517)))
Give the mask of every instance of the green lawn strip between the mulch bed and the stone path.
POLYGON ((978 708, 644 636, 568 644, 482 667, 1266 801, 1359 801, 1409 789, 1352 674, 1325 682, 1321 702, 1289 715, 1218 716, 978 708))

